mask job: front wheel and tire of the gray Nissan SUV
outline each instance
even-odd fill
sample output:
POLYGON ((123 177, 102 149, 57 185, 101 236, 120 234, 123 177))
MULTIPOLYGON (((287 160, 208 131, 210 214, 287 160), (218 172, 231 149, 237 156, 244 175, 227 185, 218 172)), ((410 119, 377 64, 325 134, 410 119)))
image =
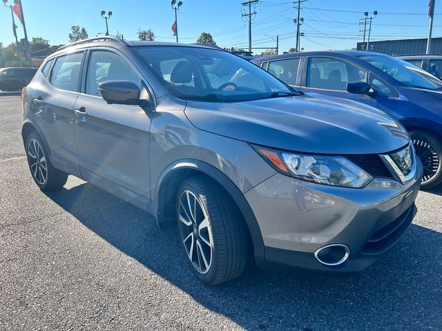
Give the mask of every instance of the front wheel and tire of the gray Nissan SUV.
POLYGON ((204 176, 186 179, 177 192, 178 237, 193 274, 206 285, 238 277, 249 250, 247 226, 229 194, 204 176))

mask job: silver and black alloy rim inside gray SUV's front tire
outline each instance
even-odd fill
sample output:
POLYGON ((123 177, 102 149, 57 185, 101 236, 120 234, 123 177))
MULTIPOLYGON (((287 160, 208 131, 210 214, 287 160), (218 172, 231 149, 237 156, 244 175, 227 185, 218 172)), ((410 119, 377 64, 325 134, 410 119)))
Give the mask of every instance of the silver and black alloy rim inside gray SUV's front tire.
POLYGON ((187 257, 195 270, 200 274, 206 274, 212 263, 211 223, 206 208, 190 190, 184 190, 180 196, 178 217, 187 257))

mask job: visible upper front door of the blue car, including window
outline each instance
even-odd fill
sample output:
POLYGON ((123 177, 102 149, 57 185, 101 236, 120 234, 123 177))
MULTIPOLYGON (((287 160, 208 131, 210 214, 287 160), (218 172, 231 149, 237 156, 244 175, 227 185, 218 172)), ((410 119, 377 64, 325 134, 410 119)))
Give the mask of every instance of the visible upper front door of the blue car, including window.
POLYGON ((308 57, 306 60, 305 81, 302 82, 300 88, 302 92, 327 94, 378 107, 376 97, 347 92, 347 83, 367 82, 367 70, 349 61, 334 57, 308 57))

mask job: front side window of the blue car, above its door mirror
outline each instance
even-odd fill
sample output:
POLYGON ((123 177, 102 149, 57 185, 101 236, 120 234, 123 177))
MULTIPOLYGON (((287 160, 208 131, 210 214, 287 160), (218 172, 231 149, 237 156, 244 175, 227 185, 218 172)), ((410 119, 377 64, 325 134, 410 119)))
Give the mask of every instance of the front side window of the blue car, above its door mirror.
POLYGON ((328 57, 311 57, 307 64, 307 88, 347 90, 347 83, 367 81, 367 72, 351 63, 328 57))

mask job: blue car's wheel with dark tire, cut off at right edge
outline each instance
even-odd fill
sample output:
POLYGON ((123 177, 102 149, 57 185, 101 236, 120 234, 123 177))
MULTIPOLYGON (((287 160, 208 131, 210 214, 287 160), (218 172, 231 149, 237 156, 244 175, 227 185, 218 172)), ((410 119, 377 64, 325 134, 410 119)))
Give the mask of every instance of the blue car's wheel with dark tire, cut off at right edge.
POLYGON ((438 137, 423 131, 410 132, 416 154, 423 164, 421 188, 426 190, 442 183, 442 143, 438 137))

